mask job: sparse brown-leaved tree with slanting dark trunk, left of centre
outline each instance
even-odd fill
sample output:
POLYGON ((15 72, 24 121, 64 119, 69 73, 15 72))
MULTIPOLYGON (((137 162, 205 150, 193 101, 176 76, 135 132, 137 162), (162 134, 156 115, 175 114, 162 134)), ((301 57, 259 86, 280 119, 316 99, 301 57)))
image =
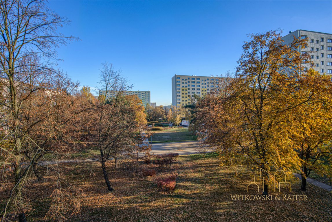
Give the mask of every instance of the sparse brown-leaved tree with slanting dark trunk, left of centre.
POLYGON ((137 96, 126 96, 127 80, 112 64, 102 64, 99 103, 94 106, 93 141, 100 151, 95 159, 101 163, 104 179, 109 191, 113 191, 106 162, 117 160, 132 153, 137 132, 146 127, 144 107, 137 96))

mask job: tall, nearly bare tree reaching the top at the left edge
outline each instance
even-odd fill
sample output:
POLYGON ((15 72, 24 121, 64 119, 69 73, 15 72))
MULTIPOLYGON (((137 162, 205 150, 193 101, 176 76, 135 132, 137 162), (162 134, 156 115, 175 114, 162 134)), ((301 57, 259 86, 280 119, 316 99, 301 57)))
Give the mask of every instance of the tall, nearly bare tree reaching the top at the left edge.
MULTIPOLYGON (((59 128, 68 126, 58 111, 71 104, 62 102, 68 101, 68 94, 75 86, 50 65, 56 58, 55 47, 74 37, 57 32, 57 28, 69 21, 47 8, 44 1, 1 0, 0 11, 1 124, 5 131, 1 140, 11 144, 10 149, 1 148, 5 154, 0 164, 11 166, 15 178, 3 219, 10 209, 19 221, 26 221, 23 193, 32 166, 55 144, 54 138, 64 139, 65 134, 59 128), (40 107, 43 112, 30 115, 30 111, 40 107), (28 162, 24 169, 22 161, 28 162)), ((57 144, 60 148, 62 143, 57 144)), ((4 174, 6 167, 2 169, 4 174)))

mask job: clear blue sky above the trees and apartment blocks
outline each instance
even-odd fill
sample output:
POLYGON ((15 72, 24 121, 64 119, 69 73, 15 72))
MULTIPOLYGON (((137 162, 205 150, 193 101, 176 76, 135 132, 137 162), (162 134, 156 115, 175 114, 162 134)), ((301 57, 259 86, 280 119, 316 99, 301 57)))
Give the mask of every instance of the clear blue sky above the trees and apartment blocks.
POLYGON ((98 87, 113 63, 151 102, 171 104, 175 75, 234 72, 248 33, 296 29, 332 33, 332 1, 49 1, 81 40, 58 49, 59 68, 98 87))

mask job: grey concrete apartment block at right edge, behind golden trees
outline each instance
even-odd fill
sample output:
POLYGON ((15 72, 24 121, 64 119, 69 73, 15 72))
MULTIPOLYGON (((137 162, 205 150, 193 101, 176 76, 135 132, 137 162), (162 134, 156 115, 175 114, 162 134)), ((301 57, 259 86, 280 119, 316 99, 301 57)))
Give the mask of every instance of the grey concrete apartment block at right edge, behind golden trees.
MULTIPOLYGON (((293 36, 296 38, 308 38, 308 44, 304 49, 300 47, 297 49, 300 53, 308 52, 313 62, 313 69, 320 73, 332 74, 332 34, 307 31, 298 29, 290 32, 288 35, 282 37, 284 44, 289 44, 293 41, 293 36), (310 52, 313 51, 313 52, 310 52)), ((307 64, 306 69, 310 68, 307 64)))

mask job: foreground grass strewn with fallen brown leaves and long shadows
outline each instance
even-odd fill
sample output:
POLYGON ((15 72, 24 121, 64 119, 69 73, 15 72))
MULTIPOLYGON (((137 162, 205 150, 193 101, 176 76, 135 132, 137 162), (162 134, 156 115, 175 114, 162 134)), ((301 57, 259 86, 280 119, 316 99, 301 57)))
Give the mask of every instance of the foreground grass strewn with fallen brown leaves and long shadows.
MULTIPOLYGON (((135 174, 128 163, 116 169, 112 166, 113 162, 109 162, 109 176, 115 190, 108 192, 100 164, 60 165, 66 175, 64 179, 83 192, 81 212, 67 221, 332 221, 332 194, 310 184, 307 192, 301 192, 299 181, 291 185, 291 192, 285 189, 281 194, 305 194, 305 201, 232 200, 230 194, 248 194, 247 184, 252 178, 243 167, 219 166, 214 153, 181 156, 171 170, 158 172, 153 177, 135 174), (178 178, 174 193, 158 192, 156 178, 175 171, 178 178)), ((146 164, 140 168, 156 169, 146 164)), ((35 188, 35 194, 29 195, 34 199, 31 203, 34 211, 28 213, 28 221, 50 221, 43 217, 50 205, 49 187, 55 186, 55 179, 55 175, 49 176, 42 183, 30 186, 35 188)), ((8 190, 2 189, 2 206, 6 195, 8 190)))

